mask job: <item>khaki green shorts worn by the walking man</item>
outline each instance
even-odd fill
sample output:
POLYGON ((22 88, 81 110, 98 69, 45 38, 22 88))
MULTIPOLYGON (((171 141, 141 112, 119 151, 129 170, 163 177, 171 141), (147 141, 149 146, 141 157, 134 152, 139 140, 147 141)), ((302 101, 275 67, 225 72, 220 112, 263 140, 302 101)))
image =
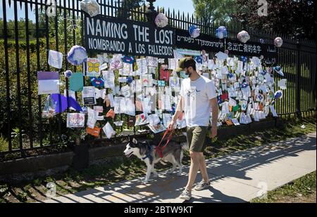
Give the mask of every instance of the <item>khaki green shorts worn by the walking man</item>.
POLYGON ((194 126, 186 128, 189 150, 192 152, 204 152, 208 126, 194 126))

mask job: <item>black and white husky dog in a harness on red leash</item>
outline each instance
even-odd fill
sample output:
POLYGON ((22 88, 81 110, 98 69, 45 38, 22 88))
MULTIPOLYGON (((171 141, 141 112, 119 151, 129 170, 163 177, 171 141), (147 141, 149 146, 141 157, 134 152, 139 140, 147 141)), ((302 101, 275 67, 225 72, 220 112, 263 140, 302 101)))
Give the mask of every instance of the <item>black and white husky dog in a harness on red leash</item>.
POLYGON ((147 176, 145 176, 145 180, 143 181, 143 183, 147 183, 151 173, 154 174, 154 177, 159 176, 154 169, 154 164, 160 162, 161 160, 163 160, 163 162, 170 162, 173 164, 172 169, 170 169, 168 173, 173 173, 176 166, 179 166, 180 170, 178 171, 178 176, 180 176, 182 174, 182 150, 186 148, 186 145, 187 143, 175 143, 173 140, 170 141, 163 150, 163 158, 161 158, 156 152, 156 145, 151 143, 151 141, 139 142, 133 138, 126 146, 124 154, 126 157, 135 155, 147 164, 147 176))

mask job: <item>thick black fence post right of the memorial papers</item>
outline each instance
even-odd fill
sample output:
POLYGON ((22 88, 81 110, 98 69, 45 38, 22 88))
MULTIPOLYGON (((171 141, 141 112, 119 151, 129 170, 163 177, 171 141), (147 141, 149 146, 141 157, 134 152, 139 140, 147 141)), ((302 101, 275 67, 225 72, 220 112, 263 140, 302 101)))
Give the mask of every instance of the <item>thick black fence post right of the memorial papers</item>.
POLYGON ((296 82, 296 114, 297 117, 302 117, 301 114, 301 44, 299 38, 296 41, 297 46, 297 82, 296 82))

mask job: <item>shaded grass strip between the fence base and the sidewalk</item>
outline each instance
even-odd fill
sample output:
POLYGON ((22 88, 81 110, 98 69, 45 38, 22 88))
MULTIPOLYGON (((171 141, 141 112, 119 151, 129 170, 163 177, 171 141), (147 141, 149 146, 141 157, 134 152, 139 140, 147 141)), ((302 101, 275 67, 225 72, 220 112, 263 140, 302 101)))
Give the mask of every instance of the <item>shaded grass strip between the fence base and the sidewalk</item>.
MULTIPOLYGON (((286 119, 287 124, 282 128, 267 129, 265 131, 256 131, 247 136, 235 136, 228 140, 216 140, 211 146, 206 147, 204 155, 206 159, 220 157, 239 150, 246 150, 250 147, 256 147, 267 143, 273 143, 286 138, 303 136, 306 133, 316 131, 316 117, 306 119, 286 119), (302 125, 305 126, 302 129, 302 125)), ((190 162, 188 152, 185 152, 183 164, 190 162)), ((157 164, 158 171, 164 171, 170 167, 170 164, 157 164)), ((144 176, 146 166, 136 157, 130 159, 116 159, 105 164, 90 166, 79 172, 69 169, 64 173, 58 173, 54 176, 37 178, 32 182, 23 182, 17 185, 0 183, 0 202, 36 202, 46 199, 46 184, 56 183, 56 195, 66 195, 90 188, 96 188, 103 185, 111 185, 122 180, 132 180, 144 176), (22 192, 25 192, 23 194, 22 192)))

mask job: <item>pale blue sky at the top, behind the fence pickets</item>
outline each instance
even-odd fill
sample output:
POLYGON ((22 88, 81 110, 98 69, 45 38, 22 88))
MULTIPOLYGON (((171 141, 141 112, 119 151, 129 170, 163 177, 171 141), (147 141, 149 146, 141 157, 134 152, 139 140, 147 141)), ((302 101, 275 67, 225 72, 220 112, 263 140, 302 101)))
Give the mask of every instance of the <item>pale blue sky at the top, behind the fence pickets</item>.
MULTIPOLYGON (((6 1, 7 5, 7 19, 8 20, 13 20, 13 1, 11 1, 11 8, 8 7, 8 0, 6 1)), ((154 3, 154 6, 159 6, 159 7, 164 7, 166 8, 166 11, 168 8, 171 9, 171 11, 173 11, 173 9, 175 9, 175 11, 180 11, 180 12, 185 12, 186 14, 189 13, 189 15, 192 15, 192 13, 194 13, 194 6, 192 5, 192 0, 156 0, 156 2, 154 3)), ((34 10, 34 8, 33 8, 34 10)), ((0 1, 0 18, 3 18, 3 14, 2 14, 2 1, 0 1)), ((25 8, 24 8, 24 4, 22 7, 22 10, 20 10, 20 6, 18 4, 18 18, 24 18, 25 17, 25 8)), ((34 13, 30 10, 29 8, 29 18, 31 20, 35 20, 35 15, 34 13)))

